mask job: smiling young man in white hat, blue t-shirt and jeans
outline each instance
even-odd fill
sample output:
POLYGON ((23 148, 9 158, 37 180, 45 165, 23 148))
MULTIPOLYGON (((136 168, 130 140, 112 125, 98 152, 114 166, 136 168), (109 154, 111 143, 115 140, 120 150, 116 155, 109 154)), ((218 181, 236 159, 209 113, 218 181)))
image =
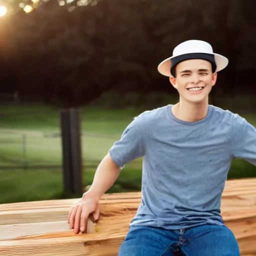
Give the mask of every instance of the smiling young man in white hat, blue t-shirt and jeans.
POLYGON ((217 72, 227 63, 207 42, 189 40, 158 65, 179 102, 145 111, 126 127, 83 200, 69 212, 75 233, 84 230, 89 213, 98 218, 99 198, 125 163, 143 156, 141 204, 118 255, 240 255, 221 218, 220 201, 233 157, 256 166, 256 129, 208 104, 217 72))

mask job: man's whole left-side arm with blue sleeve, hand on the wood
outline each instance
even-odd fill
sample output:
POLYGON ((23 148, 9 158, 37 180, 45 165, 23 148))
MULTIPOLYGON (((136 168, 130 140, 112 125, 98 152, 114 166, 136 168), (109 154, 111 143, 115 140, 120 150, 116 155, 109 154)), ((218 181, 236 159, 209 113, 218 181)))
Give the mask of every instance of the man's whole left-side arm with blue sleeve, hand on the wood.
POLYGON ((99 216, 99 198, 117 179, 125 163, 144 155, 143 123, 140 117, 135 118, 123 131, 121 138, 114 142, 107 155, 98 165, 93 183, 83 194, 82 200, 69 210, 69 227, 74 233, 86 230, 87 219, 92 214, 95 220, 99 216))

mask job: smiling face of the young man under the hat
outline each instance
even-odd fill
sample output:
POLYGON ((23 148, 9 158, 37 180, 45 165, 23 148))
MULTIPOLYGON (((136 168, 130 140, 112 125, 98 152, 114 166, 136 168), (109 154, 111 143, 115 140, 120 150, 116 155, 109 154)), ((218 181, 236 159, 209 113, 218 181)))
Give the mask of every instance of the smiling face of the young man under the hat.
POLYGON ((176 77, 171 77, 171 84, 177 89, 181 98, 198 103, 204 101, 217 74, 212 74, 211 63, 203 59, 184 60, 176 66, 176 77))

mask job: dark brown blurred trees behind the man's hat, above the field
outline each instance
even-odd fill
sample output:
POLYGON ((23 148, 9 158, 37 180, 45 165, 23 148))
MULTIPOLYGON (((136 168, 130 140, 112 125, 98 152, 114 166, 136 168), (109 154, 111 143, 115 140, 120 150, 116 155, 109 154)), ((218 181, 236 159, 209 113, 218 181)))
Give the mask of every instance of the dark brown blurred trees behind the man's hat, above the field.
POLYGON ((60 6, 48 0, 31 13, 16 11, 0 20, 1 91, 58 105, 86 104, 107 90, 174 93, 158 63, 179 42, 202 39, 230 61, 214 95, 255 95, 253 3, 90 0, 60 6))

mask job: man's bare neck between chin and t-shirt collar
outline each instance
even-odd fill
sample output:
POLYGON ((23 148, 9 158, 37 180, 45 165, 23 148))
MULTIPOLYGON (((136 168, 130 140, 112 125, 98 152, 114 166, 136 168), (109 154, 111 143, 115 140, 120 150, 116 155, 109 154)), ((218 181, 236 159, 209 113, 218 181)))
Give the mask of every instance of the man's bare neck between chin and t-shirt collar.
POLYGON ((188 102, 180 98, 180 101, 172 107, 172 113, 176 118, 188 122, 205 118, 207 111, 208 98, 199 103, 188 102))

